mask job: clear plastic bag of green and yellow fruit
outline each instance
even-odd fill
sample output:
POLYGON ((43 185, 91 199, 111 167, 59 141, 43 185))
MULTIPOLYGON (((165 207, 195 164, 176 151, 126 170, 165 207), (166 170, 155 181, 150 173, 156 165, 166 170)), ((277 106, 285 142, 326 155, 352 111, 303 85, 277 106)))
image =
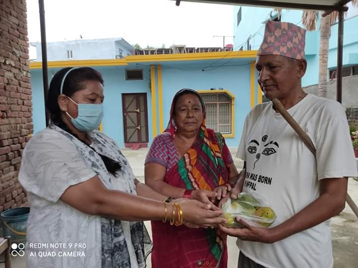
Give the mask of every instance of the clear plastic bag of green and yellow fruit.
POLYGON ((263 201, 251 193, 240 193, 237 199, 230 199, 221 206, 228 228, 242 228, 237 222, 236 216, 244 219, 248 224, 255 227, 269 227, 276 219, 276 214, 266 201, 263 201))

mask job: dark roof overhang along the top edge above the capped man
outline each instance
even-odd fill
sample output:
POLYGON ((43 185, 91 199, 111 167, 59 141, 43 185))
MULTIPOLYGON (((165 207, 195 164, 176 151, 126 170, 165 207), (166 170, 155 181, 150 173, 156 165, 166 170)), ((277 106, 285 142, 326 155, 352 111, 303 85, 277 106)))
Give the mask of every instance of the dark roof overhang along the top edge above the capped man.
POLYGON ((350 0, 175 0, 177 5, 180 1, 217 3, 231 5, 269 6, 290 9, 315 9, 324 11, 348 10, 344 5, 350 0))

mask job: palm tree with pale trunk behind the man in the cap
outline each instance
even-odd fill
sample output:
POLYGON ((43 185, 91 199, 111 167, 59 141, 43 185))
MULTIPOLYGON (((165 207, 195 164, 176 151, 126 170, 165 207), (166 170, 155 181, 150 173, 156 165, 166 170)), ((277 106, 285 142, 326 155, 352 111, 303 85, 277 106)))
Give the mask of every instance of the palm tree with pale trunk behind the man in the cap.
MULTIPOLYGON (((358 0, 351 1, 353 6, 358 6, 358 0)), ((281 15, 281 8, 275 9, 278 16, 281 15)), ((302 24, 308 31, 315 31, 318 21, 319 11, 304 10, 302 12, 302 24)), ((319 75, 318 75, 318 96, 327 96, 327 67, 329 55, 329 38, 331 36, 331 25, 336 22, 338 12, 335 11, 328 16, 321 16, 320 24, 320 51, 319 51, 319 75)))

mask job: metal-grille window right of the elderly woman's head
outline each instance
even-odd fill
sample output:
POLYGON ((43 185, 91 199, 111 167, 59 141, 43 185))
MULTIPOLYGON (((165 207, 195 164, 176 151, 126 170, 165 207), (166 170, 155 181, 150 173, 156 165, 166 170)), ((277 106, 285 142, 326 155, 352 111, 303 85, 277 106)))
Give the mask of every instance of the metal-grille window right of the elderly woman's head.
POLYGON ((206 127, 221 134, 231 134, 231 102, 225 93, 200 94, 206 109, 206 127))

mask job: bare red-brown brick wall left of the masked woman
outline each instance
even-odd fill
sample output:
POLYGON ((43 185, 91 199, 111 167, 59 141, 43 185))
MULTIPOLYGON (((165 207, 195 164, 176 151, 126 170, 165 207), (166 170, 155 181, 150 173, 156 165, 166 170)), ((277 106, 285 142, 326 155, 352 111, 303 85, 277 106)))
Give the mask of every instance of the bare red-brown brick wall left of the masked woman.
POLYGON ((0 0, 0 212, 27 202, 17 181, 33 131, 26 0, 0 0))

